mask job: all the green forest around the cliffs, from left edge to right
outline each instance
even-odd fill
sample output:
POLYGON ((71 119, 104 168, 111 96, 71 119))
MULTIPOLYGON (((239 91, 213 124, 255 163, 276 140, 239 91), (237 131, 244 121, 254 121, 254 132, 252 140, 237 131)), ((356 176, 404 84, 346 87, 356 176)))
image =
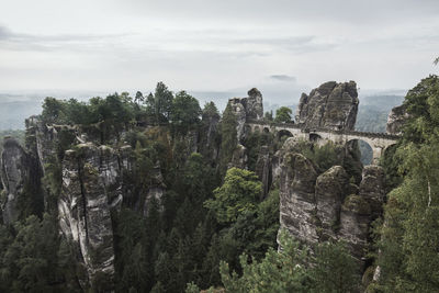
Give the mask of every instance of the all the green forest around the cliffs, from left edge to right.
MULTIPOLYGON (((59 132, 41 182, 25 182, 18 221, 0 225, 0 291, 439 292, 439 78, 423 79, 403 104, 408 119, 402 138, 380 161, 386 200, 370 232, 368 256, 375 274, 380 268, 375 279, 373 271, 359 269, 344 241, 308 247, 279 229, 279 182, 264 192, 258 154, 262 146, 274 154, 286 137, 251 133, 243 142, 246 168, 239 168, 230 106, 223 113, 214 102, 201 106, 162 82, 145 95, 122 92, 88 102, 46 98, 38 116, 44 124, 79 125, 101 146, 127 144, 133 150, 132 171, 124 174, 130 190, 111 211, 115 271, 113 277, 97 272, 85 283, 87 271, 59 233, 63 162, 66 150, 76 147, 75 137, 59 132), (210 132, 213 122, 217 128, 210 132), (162 195, 147 198, 157 185, 162 195)), ((292 120, 288 108, 274 117, 264 114, 267 123, 292 120)), ((29 129, 21 140, 32 153, 29 129)), ((352 182, 358 172, 361 177, 333 144, 301 143, 295 151, 318 173, 342 165, 352 182)))

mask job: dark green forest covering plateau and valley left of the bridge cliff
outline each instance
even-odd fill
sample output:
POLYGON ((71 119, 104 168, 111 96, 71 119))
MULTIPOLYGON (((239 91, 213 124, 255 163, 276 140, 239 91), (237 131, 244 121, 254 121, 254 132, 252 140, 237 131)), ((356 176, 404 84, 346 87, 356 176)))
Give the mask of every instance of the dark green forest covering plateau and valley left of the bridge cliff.
MULTIPOLYGON (((233 168, 225 174, 237 144, 236 117, 229 110, 218 124, 221 116, 213 102, 202 110, 195 98, 184 91, 173 94, 159 82, 154 93, 144 97, 137 92, 134 99, 125 92, 89 102, 46 98, 41 119, 48 125, 82 127, 97 144, 132 146, 133 172, 124 178, 131 190, 122 210, 112 212, 115 291, 182 292, 191 281, 201 288, 221 285, 219 261, 240 270, 241 252, 260 259, 269 247, 275 247, 278 191, 262 198, 262 183, 252 171, 233 168), (207 132, 211 137, 205 137, 207 132), (192 153, 189 137, 200 137, 199 153, 192 153), (157 172, 166 193, 161 200, 153 199, 145 214, 138 203, 145 202, 149 188, 157 184, 157 172), (243 191, 248 200, 222 202, 236 178, 249 187, 243 191), (215 199, 218 209, 209 204, 215 199), (222 209, 236 212, 230 215, 233 221, 222 219, 222 209)), ((87 271, 77 261, 78 251, 58 234, 61 164, 77 139, 63 127, 53 142, 55 151, 42 180, 47 214, 23 214, 13 225, 0 226, 0 291, 87 289, 79 283, 87 271)), ((27 138, 23 145, 35 151, 27 138)), ((256 142, 254 148, 261 143, 256 142)), ((32 199, 33 192, 29 192, 24 198, 32 199)), ((241 191, 237 192, 240 196, 241 191)), ((91 281, 91 291, 112 290, 103 275, 91 281)))

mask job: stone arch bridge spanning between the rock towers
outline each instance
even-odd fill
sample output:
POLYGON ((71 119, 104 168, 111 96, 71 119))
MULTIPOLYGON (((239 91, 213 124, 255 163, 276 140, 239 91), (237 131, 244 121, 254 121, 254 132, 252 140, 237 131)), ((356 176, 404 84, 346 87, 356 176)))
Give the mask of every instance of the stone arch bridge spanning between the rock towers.
POLYGON ((363 140, 372 148, 372 164, 378 164, 384 150, 391 145, 396 144, 398 135, 386 133, 365 133, 356 131, 334 131, 328 128, 305 128, 292 123, 266 123, 262 121, 247 121, 247 129, 251 132, 269 132, 277 135, 289 135, 308 142, 316 142, 324 145, 333 142, 337 145, 346 145, 351 140, 363 140))

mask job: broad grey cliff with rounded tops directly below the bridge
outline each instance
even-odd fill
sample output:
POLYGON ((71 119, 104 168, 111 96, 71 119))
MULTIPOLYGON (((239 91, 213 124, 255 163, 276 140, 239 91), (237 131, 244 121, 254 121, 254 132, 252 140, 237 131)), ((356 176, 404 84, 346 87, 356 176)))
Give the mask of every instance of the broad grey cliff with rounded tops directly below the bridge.
POLYGON ((317 176, 313 162, 288 154, 280 173, 280 224, 296 239, 315 244, 342 239, 364 261, 371 223, 384 201, 383 170, 363 169, 360 188, 352 187, 341 166, 317 176), (351 193, 357 192, 357 193, 351 193))

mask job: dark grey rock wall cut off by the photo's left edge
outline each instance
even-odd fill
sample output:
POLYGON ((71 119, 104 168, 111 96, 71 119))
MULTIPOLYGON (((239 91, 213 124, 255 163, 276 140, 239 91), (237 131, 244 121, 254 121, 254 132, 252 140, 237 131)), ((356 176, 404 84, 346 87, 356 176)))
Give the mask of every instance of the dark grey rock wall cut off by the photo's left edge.
POLYGON ((4 138, 1 153, 1 210, 3 223, 10 224, 30 213, 41 214, 40 165, 14 138, 4 138), (20 203, 20 206, 19 206, 20 203))

